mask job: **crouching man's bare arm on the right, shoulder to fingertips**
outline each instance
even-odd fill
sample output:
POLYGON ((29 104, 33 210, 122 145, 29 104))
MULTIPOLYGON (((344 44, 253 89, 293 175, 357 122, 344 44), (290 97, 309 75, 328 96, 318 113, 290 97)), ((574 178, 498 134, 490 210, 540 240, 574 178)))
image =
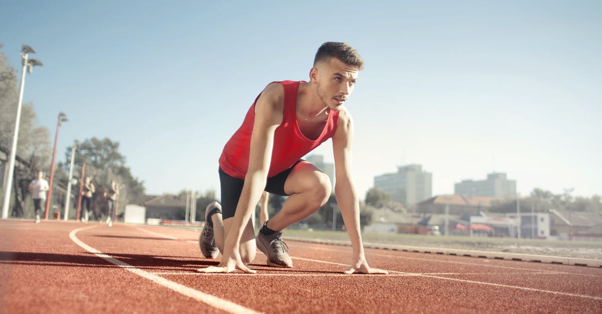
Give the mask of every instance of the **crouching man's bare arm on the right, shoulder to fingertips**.
POLYGON ((359 200, 351 178, 352 141, 353 120, 347 109, 342 108, 337 131, 332 137, 332 150, 337 176, 335 195, 353 248, 351 268, 345 272, 347 274, 356 271, 367 274, 388 274, 381 269, 370 268, 364 256, 364 245, 359 226, 359 200))

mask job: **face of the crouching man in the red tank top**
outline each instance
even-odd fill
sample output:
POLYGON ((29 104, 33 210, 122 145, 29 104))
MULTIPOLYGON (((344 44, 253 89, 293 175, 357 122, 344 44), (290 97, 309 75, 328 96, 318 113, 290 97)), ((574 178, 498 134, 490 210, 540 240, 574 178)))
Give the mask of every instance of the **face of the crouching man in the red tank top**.
POLYGON ((359 68, 343 63, 337 58, 330 58, 329 61, 316 64, 312 73, 314 70, 318 97, 328 108, 338 111, 358 81, 359 68))

